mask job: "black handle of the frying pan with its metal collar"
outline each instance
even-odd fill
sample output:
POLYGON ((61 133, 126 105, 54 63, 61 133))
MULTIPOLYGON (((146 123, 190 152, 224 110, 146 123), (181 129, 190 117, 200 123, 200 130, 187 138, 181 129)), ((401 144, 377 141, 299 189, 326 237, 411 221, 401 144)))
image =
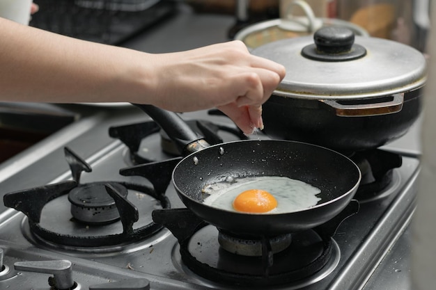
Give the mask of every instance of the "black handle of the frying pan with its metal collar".
POLYGON ((176 146, 182 154, 187 155, 210 146, 204 140, 204 137, 191 129, 178 113, 166 111, 148 104, 134 105, 141 108, 142 111, 159 124, 166 134, 168 134, 169 138, 176 143, 176 146))

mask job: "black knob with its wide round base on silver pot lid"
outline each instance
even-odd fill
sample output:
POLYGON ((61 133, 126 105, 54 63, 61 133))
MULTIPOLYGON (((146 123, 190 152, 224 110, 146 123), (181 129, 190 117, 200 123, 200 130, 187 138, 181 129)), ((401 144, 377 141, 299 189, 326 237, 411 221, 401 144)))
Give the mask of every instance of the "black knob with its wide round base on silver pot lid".
POLYGON ((318 29, 313 41, 302 49, 302 55, 315 61, 352 61, 366 55, 366 49, 355 44, 355 33, 345 27, 318 29))

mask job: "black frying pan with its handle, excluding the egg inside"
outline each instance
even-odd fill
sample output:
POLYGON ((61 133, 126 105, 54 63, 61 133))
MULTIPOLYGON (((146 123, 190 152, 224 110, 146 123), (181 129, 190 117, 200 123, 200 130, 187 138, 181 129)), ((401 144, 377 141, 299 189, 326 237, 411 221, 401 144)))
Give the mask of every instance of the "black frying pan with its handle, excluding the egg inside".
MULTIPOLYGON (((341 212, 361 180, 357 165, 343 154, 290 140, 240 140, 205 145, 177 113, 137 105, 164 131, 192 151, 173 170, 179 198, 199 218, 238 236, 276 236, 310 229, 341 212), (285 176, 320 188, 316 206, 285 214, 247 214, 203 204, 203 188, 228 177, 285 176)), ((184 147, 183 147, 184 146, 184 147)))

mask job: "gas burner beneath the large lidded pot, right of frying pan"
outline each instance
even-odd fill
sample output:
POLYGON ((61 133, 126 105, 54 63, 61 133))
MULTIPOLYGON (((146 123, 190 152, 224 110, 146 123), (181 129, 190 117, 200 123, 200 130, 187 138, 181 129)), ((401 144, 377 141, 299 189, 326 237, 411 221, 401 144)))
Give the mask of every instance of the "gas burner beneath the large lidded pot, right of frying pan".
POLYGON ((400 154, 379 149, 355 152, 350 159, 359 166, 362 174, 355 194, 359 201, 384 198, 386 189, 394 182, 394 168, 399 168, 403 163, 400 154))

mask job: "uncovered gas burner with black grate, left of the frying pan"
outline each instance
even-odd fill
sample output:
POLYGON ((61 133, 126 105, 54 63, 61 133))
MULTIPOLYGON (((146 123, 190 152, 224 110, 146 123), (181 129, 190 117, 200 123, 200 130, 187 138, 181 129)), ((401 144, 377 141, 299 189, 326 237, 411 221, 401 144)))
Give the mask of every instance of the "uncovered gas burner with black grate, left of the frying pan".
POLYGON ((171 170, 159 172, 153 186, 104 181, 80 184, 81 172, 89 172, 91 167, 66 147, 65 159, 75 180, 3 197, 6 207, 26 214, 31 234, 38 241, 68 250, 99 248, 101 252, 102 247, 110 250, 111 246, 134 243, 162 229, 151 213, 170 207, 164 193, 171 170), (65 215, 68 211, 72 217, 65 215))

